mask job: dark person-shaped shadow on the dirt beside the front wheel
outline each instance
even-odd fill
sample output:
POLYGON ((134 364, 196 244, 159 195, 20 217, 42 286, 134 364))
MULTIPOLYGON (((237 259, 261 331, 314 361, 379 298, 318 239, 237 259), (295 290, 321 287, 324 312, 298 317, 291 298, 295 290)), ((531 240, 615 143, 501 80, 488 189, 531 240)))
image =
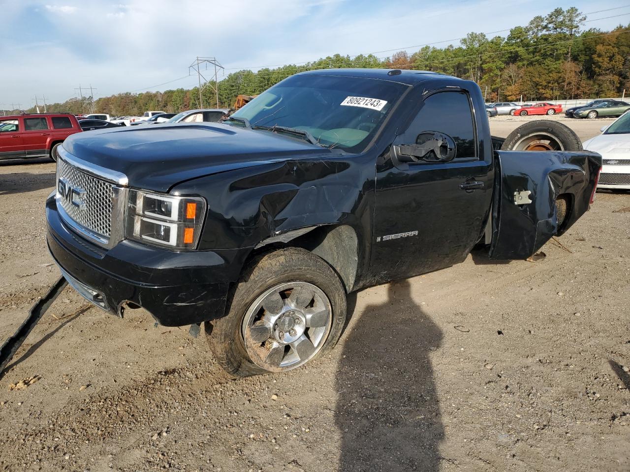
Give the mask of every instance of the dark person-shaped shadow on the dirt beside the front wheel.
POLYGON ((414 303, 410 282, 390 284, 387 300, 367 306, 345 336, 335 385, 339 469, 437 471, 444 427, 430 352, 442 331, 414 303))

